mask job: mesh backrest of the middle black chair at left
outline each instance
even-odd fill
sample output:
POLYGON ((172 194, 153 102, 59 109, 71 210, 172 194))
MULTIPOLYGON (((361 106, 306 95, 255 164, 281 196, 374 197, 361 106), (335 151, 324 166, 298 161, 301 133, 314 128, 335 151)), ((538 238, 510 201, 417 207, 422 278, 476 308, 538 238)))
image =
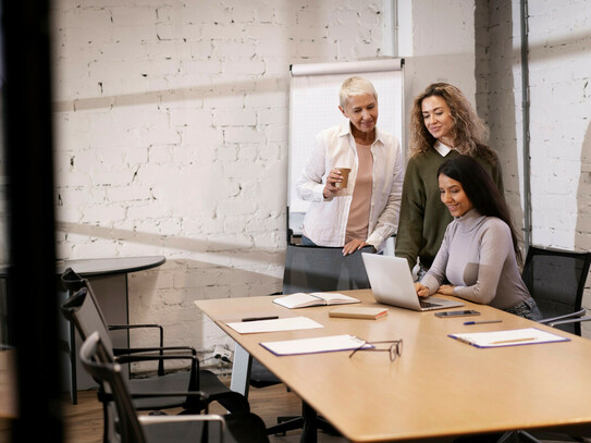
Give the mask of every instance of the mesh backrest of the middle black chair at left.
POLYGON ((113 343, 109 335, 109 325, 93 294, 90 285, 84 285, 70 296, 61 306, 64 317, 74 322, 82 340, 88 339, 93 332, 98 332, 102 346, 111 358, 113 357, 113 343))

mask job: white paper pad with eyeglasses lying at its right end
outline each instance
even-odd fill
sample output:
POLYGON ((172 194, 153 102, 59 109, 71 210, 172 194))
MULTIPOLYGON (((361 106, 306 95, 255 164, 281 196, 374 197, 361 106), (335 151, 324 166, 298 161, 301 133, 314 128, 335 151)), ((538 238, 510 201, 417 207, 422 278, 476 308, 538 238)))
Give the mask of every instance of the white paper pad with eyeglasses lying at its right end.
MULTIPOLYGON (((354 335, 330 335, 313 339, 284 340, 279 342, 259 343, 274 355, 299 355, 352 350, 362 346, 364 340, 354 335)), ((372 347, 367 345, 367 347, 372 347)))

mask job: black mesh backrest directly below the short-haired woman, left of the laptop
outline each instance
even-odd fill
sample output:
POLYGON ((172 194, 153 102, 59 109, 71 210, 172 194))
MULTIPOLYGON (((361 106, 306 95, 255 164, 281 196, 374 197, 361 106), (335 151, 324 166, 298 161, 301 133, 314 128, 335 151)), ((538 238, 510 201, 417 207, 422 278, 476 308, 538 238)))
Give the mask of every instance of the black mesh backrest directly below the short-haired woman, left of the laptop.
POLYGON ((368 246, 343 256, 342 247, 287 244, 283 294, 369 288, 361 253, 374 251, 368 246))

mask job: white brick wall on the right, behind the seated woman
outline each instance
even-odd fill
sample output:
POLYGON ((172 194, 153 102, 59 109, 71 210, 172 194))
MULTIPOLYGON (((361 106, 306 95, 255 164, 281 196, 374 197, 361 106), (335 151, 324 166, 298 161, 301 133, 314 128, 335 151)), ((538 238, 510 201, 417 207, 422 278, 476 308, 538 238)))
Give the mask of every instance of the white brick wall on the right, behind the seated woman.
MULTIPOLYGON (((477 13, 480 8, 480 13, 489 14, 480 29, 487 45, 478 53, 487 69, 479 79, 483 91, 479 103, 487 111, 491 144, 504 161, 514 216, 522 220, 522 199, 515 198, 520 195, 515 179, 522 180, 519 1, 489 9, 487 3, 477 1, 477 13)), ((591 11, 584 0, 529 0, 528 8, 532 243, 590 250, 591 180, 580 171, 591 159, 591 11)), ((588 279, 583 299, 588 308, 590 285, 588 279)), ((589 323, 583 323, 583 331, 591 336, 589 323)))

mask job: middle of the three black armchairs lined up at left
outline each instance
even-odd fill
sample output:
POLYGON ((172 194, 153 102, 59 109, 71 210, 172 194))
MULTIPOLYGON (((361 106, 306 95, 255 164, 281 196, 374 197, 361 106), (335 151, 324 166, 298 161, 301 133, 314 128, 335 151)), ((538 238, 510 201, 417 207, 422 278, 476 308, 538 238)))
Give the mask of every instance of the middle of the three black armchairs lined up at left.
MULTIPOLYGON (((189 393, 204 391, 208 394, 208 402, 218 402, 230 411, 249 411, 250 407, 244 395, 230 391, 212 372, 199 369, 197 353, 188 346, 113 348, 108 325, 104 323, 102 311, 88 282, 62 304, 62 312, 67 320, 74 322, 83 340, 88 339, 93 332, 98 332, 110 358, 119 364, 189 361, 189 371, 165 373, 162 368, 162 373, 156 377, 127 380, 127 386, 134 395, 134 407, 137 410, 153 411, 180 407, 184 409, 184 413, 198 414, 205 405, 201 401, 197 402, 195 396, 189 393), (180 395, 145 395, 146 393, 160 392, 186 393, 187 395, 185 397, 180 395)), ((102 401, 103 440, 107 442, 113 434, 112 414, 110 413, 111 398, 108 393, 102 394, 99 398, 102 401)))

